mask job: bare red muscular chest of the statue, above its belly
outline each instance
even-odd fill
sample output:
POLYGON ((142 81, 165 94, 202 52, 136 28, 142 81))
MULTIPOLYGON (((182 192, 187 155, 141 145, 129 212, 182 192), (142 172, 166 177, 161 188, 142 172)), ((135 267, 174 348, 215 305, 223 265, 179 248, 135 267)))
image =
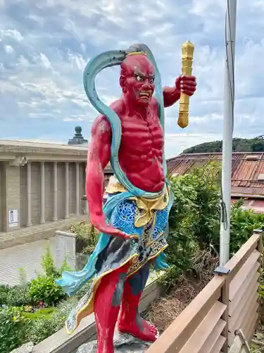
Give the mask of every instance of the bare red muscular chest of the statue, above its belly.
POLYGON ((121 148, 139 153, 163 150, 163 128, 158 115, 150 112, 145 119, 141 116, 125 116, 122 119, 121 148))

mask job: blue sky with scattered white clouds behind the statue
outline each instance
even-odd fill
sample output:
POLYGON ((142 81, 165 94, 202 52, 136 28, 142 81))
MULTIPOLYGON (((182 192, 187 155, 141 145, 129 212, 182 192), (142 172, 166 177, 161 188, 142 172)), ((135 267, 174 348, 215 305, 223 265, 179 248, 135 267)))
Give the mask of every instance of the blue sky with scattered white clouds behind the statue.
MULTIPOLYGON (((0 138, 67 143, 84 138, 97 112, 82 85, 87 61, 135 42, 152 50, 163 80, 181 73, 181 47, 195 45, 197 92, 189 126, 165 109, 165 152, 222 138, 225 0, 0 0, 0 138)), ((264 1, 237 1, 234 136, 263 135, 264 1)), ((96 79, 104 102, 120 96, 119 68, 96 79)))

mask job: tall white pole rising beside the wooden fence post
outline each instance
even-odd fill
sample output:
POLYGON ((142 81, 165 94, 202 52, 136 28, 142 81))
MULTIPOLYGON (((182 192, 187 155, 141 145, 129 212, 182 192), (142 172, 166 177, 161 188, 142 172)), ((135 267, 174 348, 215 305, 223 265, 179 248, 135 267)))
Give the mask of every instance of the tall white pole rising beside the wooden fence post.
POLYGON ((225 98, 222 136, 222 201, 225 204, 227 222, 220 229, 220 266, 230 259, 230 213, 232 137, 234 123, 234 43, 236 37, 237 0, 227 0, 225 98))

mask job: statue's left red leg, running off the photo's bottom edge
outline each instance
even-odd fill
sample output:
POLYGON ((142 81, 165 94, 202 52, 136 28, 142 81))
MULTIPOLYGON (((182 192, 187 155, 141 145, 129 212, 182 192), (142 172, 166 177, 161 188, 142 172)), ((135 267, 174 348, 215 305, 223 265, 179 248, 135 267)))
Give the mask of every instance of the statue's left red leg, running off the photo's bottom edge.
POLYGON ((129 267, 130 263, 127 263, 104 276, 96 290, 94 299, 94 316, 97 330, 96 353, 114 353, 113 333, 129 267))

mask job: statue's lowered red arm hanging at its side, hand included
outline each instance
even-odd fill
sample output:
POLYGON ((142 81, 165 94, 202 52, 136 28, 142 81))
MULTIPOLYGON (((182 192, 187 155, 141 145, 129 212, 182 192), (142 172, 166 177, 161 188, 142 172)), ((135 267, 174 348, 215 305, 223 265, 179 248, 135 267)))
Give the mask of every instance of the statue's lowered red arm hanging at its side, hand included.
POLYGON ((111 156, 111 126, 104 116, 99 116, 92 126, 92 139, 87 155, 85 189, 89 205, 90 222, 99 232, 116 237, 126 234, 106 224, 103 215, 104 175, 111 156))

